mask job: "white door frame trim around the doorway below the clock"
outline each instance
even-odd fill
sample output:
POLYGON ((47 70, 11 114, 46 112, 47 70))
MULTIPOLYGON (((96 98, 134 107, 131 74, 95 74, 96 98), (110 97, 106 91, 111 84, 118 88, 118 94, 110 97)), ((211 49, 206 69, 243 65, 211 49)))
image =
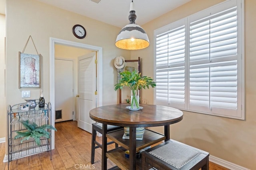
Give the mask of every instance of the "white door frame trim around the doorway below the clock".
MULTIPOLYGON (((55 114, 53 111, 55 111, 55 71, 54 71, 54 45, 66 45, 70 47, 77 47, 77 48, 82 48, 82 49, 89 49, 92 51, 97 52, 97 77, 96 77, 96 82, 97 82, 97 106, 102 106, 102 47, 96 47, 92 45, 86 45, 82 43, 77 43, 77 42, 72 42, 72 41, 67 41, 67 40, 62 40, 62 39, 56 39, 50 37, 50 103, 51 103, 51 110, 52 110, 52 115, 51 115, 51 124, 54 125, 54 120, 55 120, 55 114)), ((54 149, 54 131, 52 131, 52 138, 51 138, 51 149, 54 149)))

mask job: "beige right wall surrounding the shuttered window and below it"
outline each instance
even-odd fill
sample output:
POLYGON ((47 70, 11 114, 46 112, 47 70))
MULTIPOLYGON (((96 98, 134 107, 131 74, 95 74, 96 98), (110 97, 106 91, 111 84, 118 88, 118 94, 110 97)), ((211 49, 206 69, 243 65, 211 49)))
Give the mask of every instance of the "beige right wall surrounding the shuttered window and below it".
MULTIPOLYGON (((150 47, 132 51, 131 56, 142 58, 143 75, 153 76, 155 29, 206 9, 224 0, 192 0, 179 8, 141 25, 150 39, 150 47), (145 66, 146 65, 146 66, 145 66), (149 69, 152 68, 152 69, 149 69)), ((256 169, 256 1, 245 0, 245 80, 246 120, 237 120, 184 111, 184 119, 170 126, 171 138, 210 152, 234 164, 256 169)), ((140 17, 140 16, 137 16, 140 17)), ((145 91, 145 90, 144 90, 145 91)), ((142 94, 144 100, 153 103, 153 90, 142 94)), ((143 101, 143 99, 142 99, 143 101)), ((155 128, 163 131, 163 128, 155 128)))

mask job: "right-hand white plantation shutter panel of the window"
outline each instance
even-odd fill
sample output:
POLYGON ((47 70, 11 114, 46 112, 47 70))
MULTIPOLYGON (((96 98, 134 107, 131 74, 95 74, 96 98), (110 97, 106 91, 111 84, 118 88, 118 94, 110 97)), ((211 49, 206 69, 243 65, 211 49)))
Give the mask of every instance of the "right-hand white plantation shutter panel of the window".
MULTIPOLYGON (((236 7, 190 22, 189 105, 195 111, 237 110, 236 7)), ((232 113, 231 113, 232 114, 232 113)))

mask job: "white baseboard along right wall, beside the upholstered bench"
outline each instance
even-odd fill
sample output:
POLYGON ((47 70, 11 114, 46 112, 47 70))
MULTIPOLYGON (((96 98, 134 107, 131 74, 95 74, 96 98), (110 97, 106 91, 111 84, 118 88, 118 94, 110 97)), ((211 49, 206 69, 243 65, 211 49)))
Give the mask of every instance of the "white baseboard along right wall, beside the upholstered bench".
POLYGON ((212 156, 212 155, 209 156, 209 161, 215 164, 218 164, 220 166, 223 166, 225 168, 228 168, 230 170, 249 170, 248 168, 244 168, 242 166, 233 164, 232 162, 228 162, 226 160, 217 158, 216 156, 212 156))

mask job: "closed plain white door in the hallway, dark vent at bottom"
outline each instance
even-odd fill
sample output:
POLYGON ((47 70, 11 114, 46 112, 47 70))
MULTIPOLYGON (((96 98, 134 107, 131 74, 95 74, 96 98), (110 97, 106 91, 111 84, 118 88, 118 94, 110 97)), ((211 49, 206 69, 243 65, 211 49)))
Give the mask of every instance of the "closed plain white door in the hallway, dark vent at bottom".
POLYGON ((55 59, 55 121, 73 120, 73 61, 55 59))

